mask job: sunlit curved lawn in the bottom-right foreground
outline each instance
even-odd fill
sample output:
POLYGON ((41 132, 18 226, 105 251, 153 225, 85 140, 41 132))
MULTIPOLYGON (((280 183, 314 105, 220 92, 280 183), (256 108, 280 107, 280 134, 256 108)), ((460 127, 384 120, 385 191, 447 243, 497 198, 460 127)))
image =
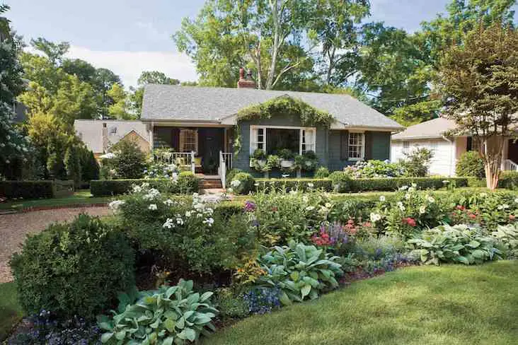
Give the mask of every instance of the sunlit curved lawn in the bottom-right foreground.
POLYGON ((411 267, 254 316, 202 344, 518 344, 518 262, 411 267))

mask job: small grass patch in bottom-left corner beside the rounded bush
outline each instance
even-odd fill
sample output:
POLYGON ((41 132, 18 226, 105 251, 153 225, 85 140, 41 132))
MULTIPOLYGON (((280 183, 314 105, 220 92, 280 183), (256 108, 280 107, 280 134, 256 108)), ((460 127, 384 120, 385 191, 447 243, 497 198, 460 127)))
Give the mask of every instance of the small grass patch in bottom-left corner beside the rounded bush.
POLYGON ((13 326, 20 322, 23 312, 18 305, 16 286, 11 283, 0 283, 0 341, 11 332, 13 326))

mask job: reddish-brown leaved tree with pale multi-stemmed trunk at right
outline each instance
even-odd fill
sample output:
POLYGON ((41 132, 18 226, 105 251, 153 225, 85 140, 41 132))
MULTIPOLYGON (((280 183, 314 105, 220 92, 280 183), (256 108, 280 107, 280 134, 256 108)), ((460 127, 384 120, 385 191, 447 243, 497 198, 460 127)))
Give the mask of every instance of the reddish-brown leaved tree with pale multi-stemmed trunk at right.
POLYGON ((495 189, 505 140, 518 124, 518 32, 510 25, 483 23, 452 46, 440 64, 446 114, 459 133, 478 141, 487 187, 495 189))

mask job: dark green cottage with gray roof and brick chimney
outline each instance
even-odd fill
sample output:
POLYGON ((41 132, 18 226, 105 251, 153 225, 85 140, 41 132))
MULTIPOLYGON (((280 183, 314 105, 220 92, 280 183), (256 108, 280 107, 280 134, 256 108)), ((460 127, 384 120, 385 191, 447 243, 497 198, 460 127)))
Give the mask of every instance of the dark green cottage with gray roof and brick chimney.
POLYGON ((152 148, 192 153, 202 160, 201 172, 217 167, 218 175, 222 165, 251 171, 250 156, 256 148, 267 154, 282 148, 298 154, 314 151, 319 164, 330 170, 362 159, 385 160, 390 156, 391 132, 403 129, 350 95, 258 90, 243 69, 238 88, 147 85, 141 120, 152 148), (307 127, 300 116, 238 119, 243 108, 282 97, 328 112, 333 122, 307 127))

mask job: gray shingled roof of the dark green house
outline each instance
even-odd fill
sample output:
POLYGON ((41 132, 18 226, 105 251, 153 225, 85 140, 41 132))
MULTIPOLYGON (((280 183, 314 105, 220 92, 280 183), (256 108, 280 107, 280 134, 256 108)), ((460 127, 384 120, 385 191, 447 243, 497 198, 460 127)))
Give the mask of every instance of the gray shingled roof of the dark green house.
POLYGON ((325 110, 347 127, 403 128, 350 95, 156 84, 146 85, 141 119, 220 122, 225 117, 236 115, 243 107, 282 95, 299 98, 319 110, 325 110))

